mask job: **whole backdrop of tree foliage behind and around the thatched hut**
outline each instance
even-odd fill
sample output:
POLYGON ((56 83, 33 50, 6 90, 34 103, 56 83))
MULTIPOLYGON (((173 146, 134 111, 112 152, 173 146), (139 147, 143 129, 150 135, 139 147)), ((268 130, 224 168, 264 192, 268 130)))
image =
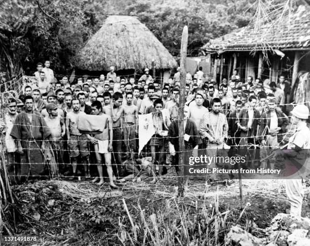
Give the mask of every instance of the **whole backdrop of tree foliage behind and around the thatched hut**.
POLYGON ((0 69, 14 74, 22 65, 29 73, 37 62, 50 59, 56 73, 67 73, 76 52, 110 14, 137 16, 174 56, 186 24, 188 55, 197 56, 210 38, 247 25, 250 7, 246 0, 2 1, 0 69))

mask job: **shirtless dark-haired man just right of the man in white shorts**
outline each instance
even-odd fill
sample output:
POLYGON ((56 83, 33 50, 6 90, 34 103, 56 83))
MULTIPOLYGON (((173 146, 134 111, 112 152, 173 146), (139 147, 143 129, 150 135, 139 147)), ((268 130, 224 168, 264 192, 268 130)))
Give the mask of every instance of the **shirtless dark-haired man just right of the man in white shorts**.
POLYGON ((112 101, 110 105, 103 107, 102 112, 109 115, 112 118, 113 126, 113 158, 114 165, 112 166, 113 173, 120 176, 121 171, 121 151, 122 151, 122 135, 123 135, 123 120, 121 108, 123 102, 123 95, 120 92, 115 92, 113 94, 112 101))

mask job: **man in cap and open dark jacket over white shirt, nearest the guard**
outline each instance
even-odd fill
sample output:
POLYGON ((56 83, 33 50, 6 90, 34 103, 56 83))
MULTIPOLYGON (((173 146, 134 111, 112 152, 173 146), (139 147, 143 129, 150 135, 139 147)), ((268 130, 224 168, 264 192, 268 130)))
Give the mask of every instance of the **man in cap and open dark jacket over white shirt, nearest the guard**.
MULTIPOLYGON (((283 140, 283 133, 286 132, 288 125, 288 117, 277 108, 277 99, 270 97, 267 102, 266 111, 263 111, 260 116, 260 126, 258 140, 262 145, 260 153, 268 155, 269 149, 276 149, 283 140)), ((264 158, 265 156, 262 156, 264 158)), ((261 162, 262 168, 267 167, 267 160, 261 162)), ((275 163, 270 162, 270 168, 274 168, 275 163)))

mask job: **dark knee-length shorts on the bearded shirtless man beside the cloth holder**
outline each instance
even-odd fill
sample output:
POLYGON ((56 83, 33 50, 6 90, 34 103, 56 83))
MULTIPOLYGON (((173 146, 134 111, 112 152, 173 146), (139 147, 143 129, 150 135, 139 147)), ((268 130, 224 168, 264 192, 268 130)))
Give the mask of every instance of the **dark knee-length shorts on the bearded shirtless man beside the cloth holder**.
POLYGON ((68 140, 68 147, 70 151, 70 157, 82 157, 89 155, 89 149, 87 146, 88 139, 85 134, 80 136, 70 135, 70 140, 68 140))

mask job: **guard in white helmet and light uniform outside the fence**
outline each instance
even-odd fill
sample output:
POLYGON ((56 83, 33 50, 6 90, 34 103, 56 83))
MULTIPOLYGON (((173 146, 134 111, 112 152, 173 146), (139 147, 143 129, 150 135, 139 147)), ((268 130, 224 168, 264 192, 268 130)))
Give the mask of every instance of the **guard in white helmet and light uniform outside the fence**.
MULTIPOLYGON (((310 148, 310 130, 307 127, 306 120, 309 116, 309 109, 303 104, 298 104, 291 112, 293 115, 292 124, 296 125, 296 132, 289 139, 287 150, 284 150, 284 156, 295 157, 300 155, 302 149, 310 148)), ((305 160, 305 163, 307 161, 305 160)), ((286 179, 285 189, 288 200, 291 204, 290 215, 300 218, 303 197, 302 177, 296 175, 297 179, 286 179)))

